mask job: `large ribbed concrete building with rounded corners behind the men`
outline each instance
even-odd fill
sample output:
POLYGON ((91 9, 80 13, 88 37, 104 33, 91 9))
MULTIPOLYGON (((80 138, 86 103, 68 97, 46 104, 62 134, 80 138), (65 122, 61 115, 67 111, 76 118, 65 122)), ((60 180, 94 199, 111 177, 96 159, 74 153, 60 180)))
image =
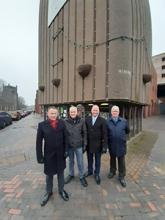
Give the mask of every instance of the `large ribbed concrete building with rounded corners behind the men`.
POLYGON ((40 0, 39 104, 61 116, 92 103, 107 116, 117 104, 134 135, 151 104, 151 50, 148 0, 40 0))

